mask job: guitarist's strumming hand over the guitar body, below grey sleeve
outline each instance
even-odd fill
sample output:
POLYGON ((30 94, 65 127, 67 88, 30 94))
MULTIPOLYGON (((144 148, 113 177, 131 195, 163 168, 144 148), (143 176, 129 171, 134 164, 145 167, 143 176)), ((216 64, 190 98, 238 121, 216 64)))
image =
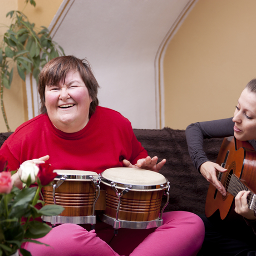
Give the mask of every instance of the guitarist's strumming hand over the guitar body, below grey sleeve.
POLYGON ((218 189, 222 195, 225 196, 227 194, 227 191, 225 190, 224 186, 221 184, 221 182, 217 179, 217 176, 216 176, 216 171, 220 171, 220 173, 225 173, 227 169, 221 167, 216 163, 207 161, 201 164, 199 170, 201 175, 203 175, 207 181, 213 184, 215 188, 218 189))

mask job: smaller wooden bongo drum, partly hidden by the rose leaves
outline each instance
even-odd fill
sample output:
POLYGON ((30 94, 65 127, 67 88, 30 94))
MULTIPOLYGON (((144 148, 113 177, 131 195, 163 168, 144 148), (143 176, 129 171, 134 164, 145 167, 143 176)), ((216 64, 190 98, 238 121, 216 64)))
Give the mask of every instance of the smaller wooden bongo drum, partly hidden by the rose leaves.
POLYGON ((99 174, 92 171, 55 170, 51 186, 43 188, 45 204, 65 208, 58 216, 43 216, 43 221, 57 223, 95 224, 95 203, 100 195, 99 174), (97 191, 97 197, 96 197, 97 191))

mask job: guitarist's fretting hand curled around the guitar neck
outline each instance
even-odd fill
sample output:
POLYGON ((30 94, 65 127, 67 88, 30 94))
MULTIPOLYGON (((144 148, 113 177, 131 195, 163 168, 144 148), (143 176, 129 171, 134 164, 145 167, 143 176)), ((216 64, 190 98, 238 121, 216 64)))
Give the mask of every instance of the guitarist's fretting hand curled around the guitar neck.
POLYGON ((250 191, 240 191, 237 196, 235 196, 235 212, 242 215, 244 218, 249 220, 255 220, 256 216, 254 211, 250 210, 247 203, 247 196, 250 191))

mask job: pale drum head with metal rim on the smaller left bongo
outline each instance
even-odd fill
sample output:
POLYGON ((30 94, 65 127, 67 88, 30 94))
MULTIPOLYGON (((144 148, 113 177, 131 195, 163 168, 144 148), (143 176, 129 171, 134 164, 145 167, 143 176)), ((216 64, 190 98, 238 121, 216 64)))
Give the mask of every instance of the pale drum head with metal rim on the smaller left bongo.
POLYGON ((99 174, 94 171, 54 170, 53 172, 57 173, 55 180, 61 179, 63 175, 67 175, 66 180, 72 181, 91 180, 90 176, 93 176, 97 180, 99 177, 99 174))

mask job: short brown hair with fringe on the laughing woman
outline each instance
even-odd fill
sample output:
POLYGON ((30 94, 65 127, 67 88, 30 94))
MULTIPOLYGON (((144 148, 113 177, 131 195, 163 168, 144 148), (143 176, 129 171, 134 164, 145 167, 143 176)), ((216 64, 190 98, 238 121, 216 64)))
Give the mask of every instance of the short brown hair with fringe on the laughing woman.
POLYGON ((98 88, 100 87, 96 78, 93 76, 90 63, 83 59, 80 60, 74 56, 61 56, 53 58, 46 63, 39 74, 38 92, 41 100, 40 114, 47 114, 45 106, 45 88, 46 86, 58 85, 65 78, 68 72, 79 72, 85 86, 91 97, 89 117, 95 112, 96 106, 99 105, 97 99, 98 88))

